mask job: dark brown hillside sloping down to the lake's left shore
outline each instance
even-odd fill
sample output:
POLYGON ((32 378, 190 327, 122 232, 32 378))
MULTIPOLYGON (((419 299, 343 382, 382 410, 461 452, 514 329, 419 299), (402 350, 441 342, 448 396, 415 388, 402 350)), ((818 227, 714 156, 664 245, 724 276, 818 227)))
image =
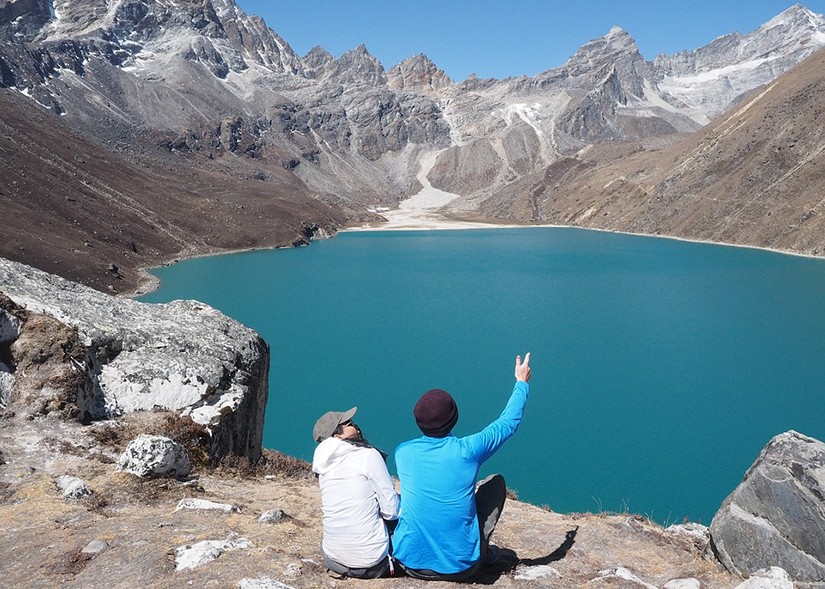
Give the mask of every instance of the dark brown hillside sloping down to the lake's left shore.
POLYGON ((225 172, 221 158, 142 150, 151 142, 139 135, 105 149, 0 89, 0 256, 128 291, 144 266, 291 245, 316 224, 334 230, 345 221, 286 170, 268 172, 266 182, 245 178, 238 165, 225 172))

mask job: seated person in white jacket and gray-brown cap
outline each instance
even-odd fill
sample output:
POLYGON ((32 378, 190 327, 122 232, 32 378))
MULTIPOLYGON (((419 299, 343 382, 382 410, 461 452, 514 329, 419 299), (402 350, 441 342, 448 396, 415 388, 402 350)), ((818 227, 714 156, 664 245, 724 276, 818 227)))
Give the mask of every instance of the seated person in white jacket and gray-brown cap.
POLYGON ((356 407, 329 411, 312 430, 320 442, 312 470, 321 487, 321 551, 330 574, 374 579, 394 573, 385 520, 396 520, 400 499, 384 456, 352 423, 356 407))

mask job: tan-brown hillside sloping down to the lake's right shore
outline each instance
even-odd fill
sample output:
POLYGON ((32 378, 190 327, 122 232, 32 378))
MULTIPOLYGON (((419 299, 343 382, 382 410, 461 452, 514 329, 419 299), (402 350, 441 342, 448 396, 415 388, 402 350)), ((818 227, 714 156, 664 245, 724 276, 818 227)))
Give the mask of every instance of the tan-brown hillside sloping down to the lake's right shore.
POLYGON ((597 145, 493 195, 482 214, 822 255, 824 110, 820 51, 673 145, 597 145))

